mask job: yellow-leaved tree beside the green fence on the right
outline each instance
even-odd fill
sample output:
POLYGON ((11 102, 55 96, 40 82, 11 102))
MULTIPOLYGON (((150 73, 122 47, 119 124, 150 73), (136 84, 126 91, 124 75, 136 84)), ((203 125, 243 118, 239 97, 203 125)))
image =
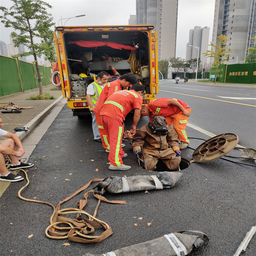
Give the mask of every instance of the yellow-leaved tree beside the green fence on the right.
POLYGON ((229 59, 230 54, 226 54, 226 53, 228 53, 232 50, 229 47, 224 47, 224 45, 226 45, 226 42, 230 41, 230 40, 227 40, 227 35, 221 34, 217 38, 219 39, 218 44, 214 44, 213 42, 211 42, 211 44, 209 44, 209 46, 215 47, 215 49, 217 51, 214 52, 214 51, 207 50, 206 53, 203 53, 204 56, 208 56, 208 57, 215 59, 212 64, 212 67, 215 68, 215 82, 216 82, 216 77, 217 77, 218 66, 221 65, 221 63, 223 61, 229 61, 228 59, 229 59))

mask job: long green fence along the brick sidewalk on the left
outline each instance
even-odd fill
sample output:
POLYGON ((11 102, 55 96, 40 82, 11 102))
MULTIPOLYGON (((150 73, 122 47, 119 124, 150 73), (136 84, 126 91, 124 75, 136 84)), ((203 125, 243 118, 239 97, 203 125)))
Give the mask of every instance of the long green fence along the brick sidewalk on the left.
MULTIPOLYGON (((42 86, 49 85, 51 70, 39 65, 42 86)), ((35 63, 0 55, 0 97, 39 87, 35 63)))

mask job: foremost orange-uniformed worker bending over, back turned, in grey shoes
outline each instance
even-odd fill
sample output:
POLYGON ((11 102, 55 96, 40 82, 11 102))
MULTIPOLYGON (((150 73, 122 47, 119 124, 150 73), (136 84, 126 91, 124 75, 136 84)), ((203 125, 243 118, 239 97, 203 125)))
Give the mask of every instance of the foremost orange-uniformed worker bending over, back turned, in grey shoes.
POLYGON ((127 157, 121 143, 124 133, 124 120, 126 115, 134 109, 132 130, 140 120, 142 95, 144 86, 135 84, 130 90, 115 91, 102 105, 100 119, 102 126, 110 139, 110 170, 129 170, 130 166, 124 165, 122 158, 127 157))

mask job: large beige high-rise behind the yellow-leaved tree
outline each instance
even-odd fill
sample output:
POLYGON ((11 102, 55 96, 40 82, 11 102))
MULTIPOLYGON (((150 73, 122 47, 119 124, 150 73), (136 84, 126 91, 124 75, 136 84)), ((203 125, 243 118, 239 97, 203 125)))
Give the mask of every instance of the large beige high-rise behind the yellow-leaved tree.
MULTIPOLYGON (((251 34, 256 31, 256 21, 255 26, 253 25, 254 11, 255 0, 215 0, 212 42, 218 44, 217 37, 227 35, 229 41, 223 47, 230 47, 230 56, 234 57, 234 60, 225 63, 245 61, 248 41, 251 41, 251 34)), ((215 47, 211 51, 216 51, 215 47)), ((211 63, 213 61, 212 58, 211 63)))

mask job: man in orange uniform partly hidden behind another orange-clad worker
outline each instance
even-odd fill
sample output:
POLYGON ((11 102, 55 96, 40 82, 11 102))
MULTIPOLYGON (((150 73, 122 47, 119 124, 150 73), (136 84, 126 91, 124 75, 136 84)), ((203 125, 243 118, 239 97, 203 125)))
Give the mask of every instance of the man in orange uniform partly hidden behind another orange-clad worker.
MULTIPOLYGON (((104 148, 106 148, 106 152, 108 152, 108 153, 110 152, 109 138, 108 138, 108 136, 107 136, 102 124, 101 124, 100 115, 99 115, 100 109, 101 109, 102 105, 104 104, 104 102, 106 101, 106 99, 111 94, 113 94, 115 91, 122 90, 122 87, 123 88, 130 87, 130 86, 132 86, 136 83, 138 83, 138 80, 137 80, 135 75, 133 75, 132 73, 124 74, 124 75, 120 76, 119 79, 108 83, 102 89, 100 97, 97 100, 96 107, 94 108, 94 113, 95 113, 96 121, 97 121, 97 124, 98 124, 102 145, 103 145, 104 148)), ((125 147, 125 144, 122 144, 121 146, 125 147)))

